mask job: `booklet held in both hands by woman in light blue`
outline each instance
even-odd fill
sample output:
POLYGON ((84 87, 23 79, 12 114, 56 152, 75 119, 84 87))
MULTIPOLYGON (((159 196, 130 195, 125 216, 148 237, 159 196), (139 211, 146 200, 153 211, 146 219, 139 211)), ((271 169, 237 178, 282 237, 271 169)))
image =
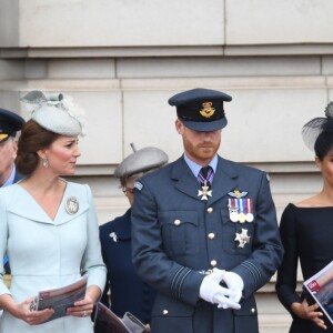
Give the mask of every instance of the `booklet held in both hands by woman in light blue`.
POLYGON ((85 274, 74 283, 58 289, 40 291, 36 299, 31 302, 30 310, 53 309, 54 313, 47 320, 47 322, 65 316, 68 307, 72 306, 74 302, 84 299, 88 275, 85 274))

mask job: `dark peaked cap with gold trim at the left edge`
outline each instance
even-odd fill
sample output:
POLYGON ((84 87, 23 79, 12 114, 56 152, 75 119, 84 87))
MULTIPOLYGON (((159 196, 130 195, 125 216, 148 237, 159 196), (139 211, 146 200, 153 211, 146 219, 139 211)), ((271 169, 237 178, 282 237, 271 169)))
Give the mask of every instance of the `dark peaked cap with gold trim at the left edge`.
POLYGON ((14 137, 26 123, 24 119, 11 111, 0 109, 0 142, 14 137))

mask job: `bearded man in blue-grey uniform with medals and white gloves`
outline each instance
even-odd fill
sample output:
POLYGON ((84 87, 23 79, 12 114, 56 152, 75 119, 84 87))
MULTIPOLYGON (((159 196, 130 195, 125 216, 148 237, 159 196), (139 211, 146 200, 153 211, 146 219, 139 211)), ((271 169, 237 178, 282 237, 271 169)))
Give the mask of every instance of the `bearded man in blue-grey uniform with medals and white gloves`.
POLYGON ((173 95, 184 154, 135 182, 132 256, 157 290, 152 332, 259 332, 253 294, 283 248, 268 175, 218 155, 231 99, 209 89, 173 95))

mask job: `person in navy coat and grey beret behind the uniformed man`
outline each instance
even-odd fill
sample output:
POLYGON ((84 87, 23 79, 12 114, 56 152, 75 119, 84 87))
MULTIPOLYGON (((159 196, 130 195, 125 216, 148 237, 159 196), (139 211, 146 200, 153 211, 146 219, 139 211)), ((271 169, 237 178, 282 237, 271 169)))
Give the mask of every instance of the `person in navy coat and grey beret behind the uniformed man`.
MULTIPOLYGON (((123 193, 133 204, 134 182, 168 162, 168 154, 154 147, 135 150, 114 170, 120 179, 123 193)), ((102 255, 108 269, 107 286, 102 303, 110 306, 120 317, 125 312, 134 314, 142 323, 149 324, 155 292, 137 274, 132 263, 131 208, 122 215, 100 226, 102 255)), ((97 331, 95 331, 97 332, 97 331)), ((100 332, 103 333, 103 332, 100 332)))

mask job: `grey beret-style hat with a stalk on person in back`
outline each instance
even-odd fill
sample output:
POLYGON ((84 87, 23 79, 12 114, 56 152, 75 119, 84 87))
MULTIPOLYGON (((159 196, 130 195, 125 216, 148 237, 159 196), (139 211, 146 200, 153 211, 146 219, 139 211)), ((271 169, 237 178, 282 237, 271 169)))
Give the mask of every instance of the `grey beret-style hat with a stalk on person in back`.
POLYGON ((168 154, 159 148, 147 147, 135 150, 131 143, 133 152, 128 155, 114 170, 114 176, 129 178, 131 175, 148 172, 165 164, 168 154))

